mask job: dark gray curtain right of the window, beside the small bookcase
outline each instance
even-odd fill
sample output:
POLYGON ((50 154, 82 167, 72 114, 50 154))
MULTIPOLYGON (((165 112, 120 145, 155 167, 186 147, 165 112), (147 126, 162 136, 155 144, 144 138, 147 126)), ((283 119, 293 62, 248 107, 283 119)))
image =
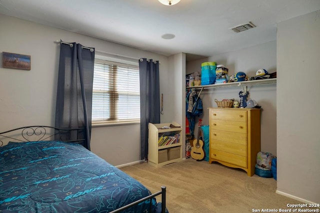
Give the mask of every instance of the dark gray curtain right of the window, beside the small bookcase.
POLYGON ((159 61, 139 59, 141 159, 148 156, 148 122, 160 123, 159 61))

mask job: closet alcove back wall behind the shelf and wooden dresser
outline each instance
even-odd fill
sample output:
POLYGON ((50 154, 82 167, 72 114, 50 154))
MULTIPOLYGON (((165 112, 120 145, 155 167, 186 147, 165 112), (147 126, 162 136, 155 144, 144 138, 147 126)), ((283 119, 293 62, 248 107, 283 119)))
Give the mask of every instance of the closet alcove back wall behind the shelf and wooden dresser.
MULTIPOLYGON (((248 76, 254 76, 260 68, 268 72, 276 71, 276 41, 270 41, 237 51, 213 55, 208 58, 189 61, 187 70, 189 73, 201 70, 201 62, 216 61, 228 68, 229 74, 244 71, 248 76), (189 68, 192 67, 192 68, 189 68), (198 67, 198 68, 196 68, 198 67)), ((276 154, 276 84, 254 85, 247 87, 249 98, 257 101, 262 106, 261 110, 261 151, 276 154)), ((203 102, 203 125, 208 125, 207 107, 216 107, 214 99, 234 98, 239 100, 241 87, 210 88, 203 89, 200 97, 203 102)), ((196 121, 197 122, 197 121, 196 121)), ((197 132, 197 129, 195 129, 197 132)), ((196 135, 196 134, 195 134, 196 135)))

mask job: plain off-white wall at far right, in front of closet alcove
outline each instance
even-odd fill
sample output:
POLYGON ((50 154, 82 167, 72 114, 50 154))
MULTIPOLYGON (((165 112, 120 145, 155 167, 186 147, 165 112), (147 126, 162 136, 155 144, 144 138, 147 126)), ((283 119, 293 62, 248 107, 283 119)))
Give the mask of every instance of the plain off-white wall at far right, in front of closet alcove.
POLYGON ((277 192, 320 203, 320 10, 277 24, 277 192))

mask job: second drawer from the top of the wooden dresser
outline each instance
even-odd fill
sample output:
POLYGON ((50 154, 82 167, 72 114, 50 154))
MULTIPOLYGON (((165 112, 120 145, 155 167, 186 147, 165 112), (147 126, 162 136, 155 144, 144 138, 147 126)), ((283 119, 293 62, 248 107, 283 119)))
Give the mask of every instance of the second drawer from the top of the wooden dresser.
POLYGON ((246 122, 229 120, 210 120, 210 129, 246 133, 246 122))

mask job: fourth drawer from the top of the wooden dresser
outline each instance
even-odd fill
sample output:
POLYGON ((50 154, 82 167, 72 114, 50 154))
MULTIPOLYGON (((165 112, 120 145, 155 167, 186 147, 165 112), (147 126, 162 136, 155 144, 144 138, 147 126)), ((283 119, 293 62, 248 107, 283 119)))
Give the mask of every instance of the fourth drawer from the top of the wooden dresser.
POLYGON ((228 153, 233 153, 246 157, 246 145, 226 142, 222 140, 212 140, 211 149, 217 149, 228 153))

